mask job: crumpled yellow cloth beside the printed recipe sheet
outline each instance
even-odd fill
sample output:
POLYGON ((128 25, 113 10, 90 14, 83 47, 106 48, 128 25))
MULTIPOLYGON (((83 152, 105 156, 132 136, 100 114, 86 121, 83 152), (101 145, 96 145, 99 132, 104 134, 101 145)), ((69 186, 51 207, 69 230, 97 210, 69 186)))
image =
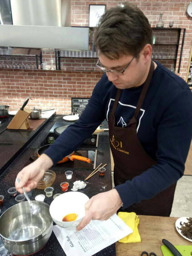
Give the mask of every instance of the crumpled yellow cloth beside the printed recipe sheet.
POLYGON ((141 242, 141 236, 137 226, 139 225, 139 218, 135 212, 118 212, 118 216, 128 225, 133 232, 119 240, 120 243, 136 243, 141 242))

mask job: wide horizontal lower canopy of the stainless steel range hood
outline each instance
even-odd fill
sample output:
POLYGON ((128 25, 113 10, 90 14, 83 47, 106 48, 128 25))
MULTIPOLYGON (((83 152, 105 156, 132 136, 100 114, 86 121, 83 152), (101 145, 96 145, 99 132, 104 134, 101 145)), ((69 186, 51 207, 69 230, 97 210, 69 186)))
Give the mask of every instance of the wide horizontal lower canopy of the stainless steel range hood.
POLYGON ((0 46, 88 50, 89 28, 0 25, 0 46))

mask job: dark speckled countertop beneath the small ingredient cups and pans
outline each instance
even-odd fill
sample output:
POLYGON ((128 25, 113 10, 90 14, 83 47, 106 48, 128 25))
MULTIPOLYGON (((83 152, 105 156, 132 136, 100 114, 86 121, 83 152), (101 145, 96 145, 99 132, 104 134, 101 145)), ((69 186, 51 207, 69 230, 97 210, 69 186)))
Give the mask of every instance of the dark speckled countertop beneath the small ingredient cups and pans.
MULTIPOLYGON (((63 122, 63 115, 55 115, 54 117, 47 119, 36 131, 15 131, 5 130, 7 124, 11 118, 7 118, 6 122, 0 125, 0 143, 13 143, 2 145, 0 144, 0 195, 4 195, 4 203, 0 206, 0 215, 8 209, 10 206, 15 205, 16 201, 10 197, 7 190, 10 187, 15 186, 15 178, 17 173, 29 163, 31 155, 35 152, 36 148, 40 148, 41 142, 47 137, 51 127, 56 122, 63 122), (2 132, 4 131, 4 132, 2 132)), ((104 122, 104 127, 107 127, 107 123, 104 122)), ((90 198, 101 192, 105 192, 112 188, 111 182, 111 160, 110 160, 110 149, 109 149, 109 138, 108 133, 100 133, 97 148, 97 161, 96 166, 100 163, 107 163, 106 174, 104 177, 100 177, 99 174, 95 174, 87 181, 87 186, 81 192, 88 195, 90 198)), ((54 187, 54 194, 61 193, 60 183, 66 181, 66 175, 64 164, 60 166, 57 164, 55 167, 50 168, 56 172, 56 180, 52 184, 54 187)), ((69 190, 73 186, 73 182, 76 180, 84 180, 89 174, 89 169, 71 169, 73 170, 73 176, 71 180, 67 180, 69 190)), ((31 200, 35 200, 35 196, 38 194, 45 194, 44 190, 33 189, 29 192, 31 200)), ((53 198, 45 197, 45 203, 51 204, 53 198)), ((45 247, 39 252, 35 253, 34 256, 60 256, 65 255, 59 242, 56 239, 55 234, 52 232, 51 237, 45 247)), ((98 252, 96 256, 116 256, 115 244, 106 247, 102 251, 98 252)))

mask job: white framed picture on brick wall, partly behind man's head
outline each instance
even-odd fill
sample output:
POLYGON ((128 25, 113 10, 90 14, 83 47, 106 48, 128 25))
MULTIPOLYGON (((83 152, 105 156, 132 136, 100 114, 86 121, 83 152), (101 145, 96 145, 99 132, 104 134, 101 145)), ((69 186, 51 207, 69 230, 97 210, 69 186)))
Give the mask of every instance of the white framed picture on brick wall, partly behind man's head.
POLYGON ((89 5, 89 26, 96 27, 105 11, 106 5, 89 5))

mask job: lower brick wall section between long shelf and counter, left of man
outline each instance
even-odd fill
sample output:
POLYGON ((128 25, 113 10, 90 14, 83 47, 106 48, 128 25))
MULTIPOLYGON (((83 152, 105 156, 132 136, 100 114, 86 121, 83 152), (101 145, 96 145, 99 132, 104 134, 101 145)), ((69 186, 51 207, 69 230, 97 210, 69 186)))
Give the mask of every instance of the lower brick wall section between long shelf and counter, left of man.
POLYGON ((71 113, 71 97, 90 97, 101 72, 65 72, 42 70, 4 69, 0 72, 0 104, 18 109, 25 97, 28 105, 48 109, 56 113, 71 113))

